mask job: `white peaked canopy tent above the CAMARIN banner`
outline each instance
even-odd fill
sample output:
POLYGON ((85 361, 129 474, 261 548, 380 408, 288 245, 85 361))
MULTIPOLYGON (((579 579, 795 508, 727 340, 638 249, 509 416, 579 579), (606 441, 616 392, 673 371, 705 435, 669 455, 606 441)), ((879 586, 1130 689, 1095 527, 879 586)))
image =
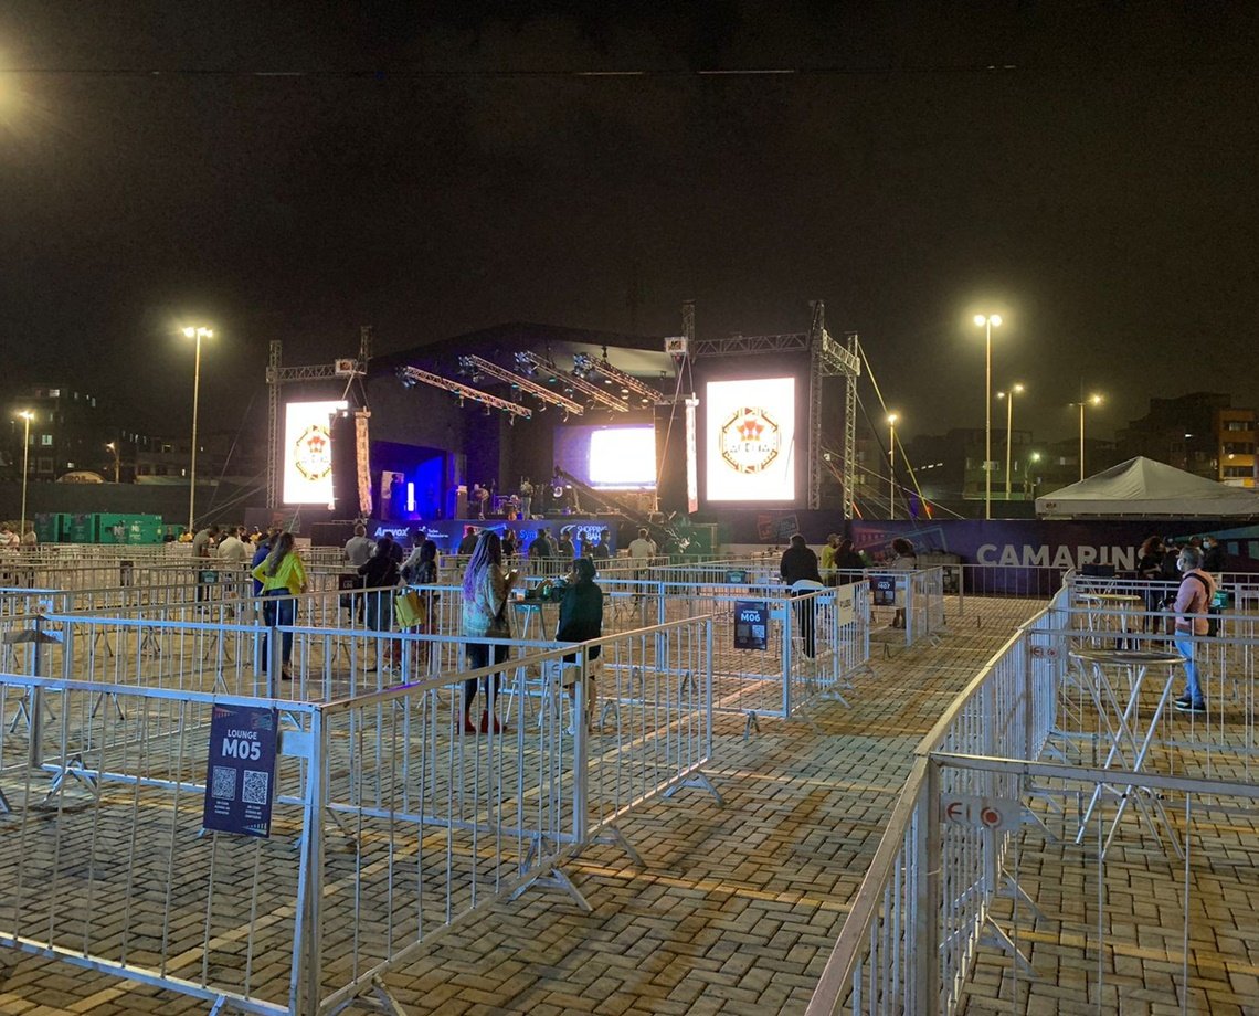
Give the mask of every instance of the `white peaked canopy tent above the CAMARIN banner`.
POLYGON ((1040 519, 1259 517, 1259 496, 1138 456, 1037 497, 1036 515, 1040 519))

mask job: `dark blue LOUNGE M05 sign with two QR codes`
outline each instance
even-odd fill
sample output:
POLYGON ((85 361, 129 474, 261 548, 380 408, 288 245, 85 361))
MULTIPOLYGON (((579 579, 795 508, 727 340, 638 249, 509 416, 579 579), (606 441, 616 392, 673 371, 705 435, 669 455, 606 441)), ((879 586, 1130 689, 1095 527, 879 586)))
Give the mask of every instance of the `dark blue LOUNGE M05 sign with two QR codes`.
POLYGON ((271 836, 278 710, 215 705, 201 825, 240 836, 271 836))

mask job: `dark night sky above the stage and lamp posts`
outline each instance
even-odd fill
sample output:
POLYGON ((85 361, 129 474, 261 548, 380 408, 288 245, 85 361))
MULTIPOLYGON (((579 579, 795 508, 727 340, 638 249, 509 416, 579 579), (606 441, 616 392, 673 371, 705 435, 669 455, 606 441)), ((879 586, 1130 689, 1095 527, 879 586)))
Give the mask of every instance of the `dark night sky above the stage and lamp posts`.
POLYGON ((701 335, 799 331, 822 298, 905 437, 982 426, 977 308, 1041 437, 1081 376, 1099 436, 1151 395, 1254 405, 1256 8, 10 0, 6 380, 180 432, 205 321, 233 427, 271 339, 675 334, 687 297, 701 335), (748 69, 796 73, 697 73, 748 69))

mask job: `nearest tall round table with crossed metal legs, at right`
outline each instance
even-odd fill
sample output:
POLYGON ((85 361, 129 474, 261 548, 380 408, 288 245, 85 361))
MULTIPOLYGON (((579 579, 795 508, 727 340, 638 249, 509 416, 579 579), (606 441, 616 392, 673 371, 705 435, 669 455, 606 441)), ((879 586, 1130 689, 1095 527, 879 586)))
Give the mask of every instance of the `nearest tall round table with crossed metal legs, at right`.
MULTIPOLYGON (((1084 686, 1093 697, 1099 719, 1105 724, 1105 734, 1110 747, 1107 752, 1103 768, 1127 768, 1129 772, 1139 773, 1146 764, 1146 755, 1155 738, 1158 720, 1162 718, 1163 710, 1167 708, 1167 700, 1171 697, 1172 684, 1176 679, 1176 667, 1185 662, 1185 657, 1178 652, 1113 650, 1102 646, 1085 646, 1071 650, 1070 657, 1079 661, 1084 686), (1155 704, 1153 713, 1149 716, 1149 723, 1142 730, 1139 726, 1141 690, 1151 667, 1163 667, 1166 672, 1162 690, 1158 692, 1158 701, 1155 704), (1128 685, 1126 697, 1124 692, 1117 689, 1117 681, 1114 680, 1123 677, 1127 679, 1128 685)), ((1084 842, 1089 818, 1093 817, 1093 811, 1102 799, 1102 794, 1109 792, 1118 797, 1119 807, 1110 822, 1110 830, 1102 847, 1102 857, 1105 857, 1107 850, 1110 849, 1110 842, 1114 840, 1115 831, 1119 827, 1119 820, 1123 818, 1123 812, 1128 807, 1129 801, 1136 802, 1142 817, 1149 826, 1149 831, 1162 844, 1158 822, 1162 822, 1168 832, 1171 832, 1171 823, 1167 820, 1167 812, 1163 810, 1163 803, 1158 794, 1133 783, 1127 784, 1122 791, 1117 789, 1117 786, 1099 783, 1093 789, 1093 797, 1080 820, 1080 828, 1075 835, 1075 842, 1084 842)), ((1176 836, 1170 835, 1168 838, 1171 840, 1172 849, 1176 851, 1176 856, 1183 860, 1185 855, 1176 836)))

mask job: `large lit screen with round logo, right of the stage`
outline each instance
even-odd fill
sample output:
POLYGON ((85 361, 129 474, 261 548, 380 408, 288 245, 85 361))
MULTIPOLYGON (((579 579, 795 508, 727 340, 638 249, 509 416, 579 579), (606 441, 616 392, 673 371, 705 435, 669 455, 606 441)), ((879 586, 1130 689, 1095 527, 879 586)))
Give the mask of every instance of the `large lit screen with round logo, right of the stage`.
POLYGON ((709 501, 796 500, 796 379, 709 381, 704 398, 709 501))

